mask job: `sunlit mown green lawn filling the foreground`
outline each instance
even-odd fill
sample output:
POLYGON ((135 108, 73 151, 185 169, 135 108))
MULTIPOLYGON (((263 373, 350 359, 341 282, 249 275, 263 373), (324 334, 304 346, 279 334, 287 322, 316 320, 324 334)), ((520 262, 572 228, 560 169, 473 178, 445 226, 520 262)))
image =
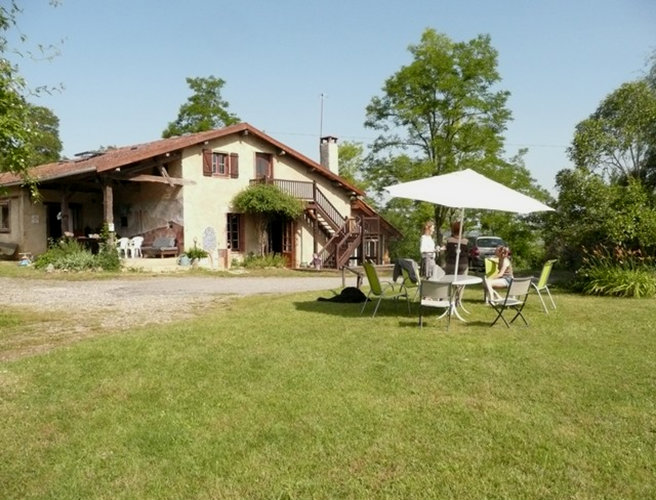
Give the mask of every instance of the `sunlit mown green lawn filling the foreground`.
POLYGON ((653 300, 506 329, 480 295, 448 332, 306 293, 4 363, 0 497, 655 498, 653 300))

